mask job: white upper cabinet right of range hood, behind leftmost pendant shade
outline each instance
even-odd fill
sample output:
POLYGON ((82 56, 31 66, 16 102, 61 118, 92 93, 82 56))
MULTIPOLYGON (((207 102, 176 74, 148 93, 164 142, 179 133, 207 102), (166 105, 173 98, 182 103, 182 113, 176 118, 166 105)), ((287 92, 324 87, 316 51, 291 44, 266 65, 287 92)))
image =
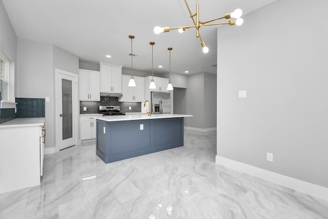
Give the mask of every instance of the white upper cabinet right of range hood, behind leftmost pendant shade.
POLYGON ((122 96, 119 101, 142 102, 145 99, 145 78, 133 76, 136 86, 129 87, 131 76, 122 75, 122 96))

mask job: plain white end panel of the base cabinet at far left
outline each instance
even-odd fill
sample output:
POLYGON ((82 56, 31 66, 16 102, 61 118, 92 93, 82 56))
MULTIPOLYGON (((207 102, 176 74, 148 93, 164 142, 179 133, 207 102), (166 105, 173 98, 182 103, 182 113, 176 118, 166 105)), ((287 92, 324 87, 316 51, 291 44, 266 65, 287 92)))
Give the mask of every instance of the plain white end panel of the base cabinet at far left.
POLYGON ((0 193, 40 185, 40 126, 0 131, 0 193))

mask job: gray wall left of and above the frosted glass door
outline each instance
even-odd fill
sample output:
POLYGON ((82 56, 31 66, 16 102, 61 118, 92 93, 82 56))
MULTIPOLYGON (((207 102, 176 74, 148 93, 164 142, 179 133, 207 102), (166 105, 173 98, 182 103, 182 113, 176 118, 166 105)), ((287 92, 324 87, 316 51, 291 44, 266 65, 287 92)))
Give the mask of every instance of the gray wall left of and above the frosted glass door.
POLYGON ((78 57, 52 44, 18 38, 16 97, 50 97, 46 102, 46 148, 55 147, 55 68, 77 74, 78 57))

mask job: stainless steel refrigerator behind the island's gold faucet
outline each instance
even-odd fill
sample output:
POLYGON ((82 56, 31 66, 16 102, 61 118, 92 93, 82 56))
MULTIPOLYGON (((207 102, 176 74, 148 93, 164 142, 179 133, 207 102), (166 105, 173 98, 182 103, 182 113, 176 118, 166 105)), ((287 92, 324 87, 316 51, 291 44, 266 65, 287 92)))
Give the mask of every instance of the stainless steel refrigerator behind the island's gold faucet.
POLYGON ((151 92, 152 114, 171 113, 171 93, 151 92))

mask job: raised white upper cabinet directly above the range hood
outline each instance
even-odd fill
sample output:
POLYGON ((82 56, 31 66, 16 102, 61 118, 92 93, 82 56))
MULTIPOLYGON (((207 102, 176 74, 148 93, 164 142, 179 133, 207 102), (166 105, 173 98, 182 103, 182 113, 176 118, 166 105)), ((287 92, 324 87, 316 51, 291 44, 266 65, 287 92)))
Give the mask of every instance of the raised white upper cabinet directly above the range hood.
POLYGON ((100 63, 100 92, 122 93, 122 67, 100 63))

